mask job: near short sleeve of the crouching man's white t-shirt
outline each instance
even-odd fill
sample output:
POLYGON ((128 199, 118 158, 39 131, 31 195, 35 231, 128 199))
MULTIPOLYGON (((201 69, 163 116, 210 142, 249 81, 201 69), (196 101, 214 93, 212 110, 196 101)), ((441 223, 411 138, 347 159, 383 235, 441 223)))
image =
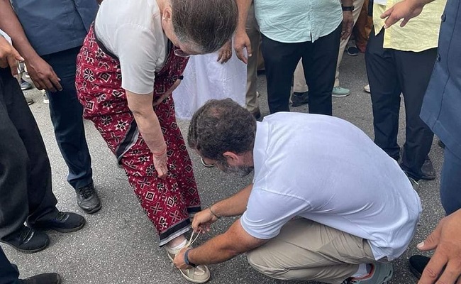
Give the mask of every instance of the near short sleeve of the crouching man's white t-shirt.
POLYGON ((253 188, 240 224, 257 239, 272 239, 291 218, 310 208, 309 202, 298 197, 253 188))

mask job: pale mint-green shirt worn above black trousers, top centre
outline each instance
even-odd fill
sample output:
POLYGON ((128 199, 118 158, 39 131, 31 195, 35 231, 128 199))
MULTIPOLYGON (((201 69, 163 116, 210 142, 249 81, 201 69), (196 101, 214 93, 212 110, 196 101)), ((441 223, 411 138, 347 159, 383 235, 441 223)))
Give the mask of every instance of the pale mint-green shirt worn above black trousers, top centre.
POLYGON ((280 43, 303 43, 335 31, 343 21, 339 0, 255 0, 263 35, 280 43))

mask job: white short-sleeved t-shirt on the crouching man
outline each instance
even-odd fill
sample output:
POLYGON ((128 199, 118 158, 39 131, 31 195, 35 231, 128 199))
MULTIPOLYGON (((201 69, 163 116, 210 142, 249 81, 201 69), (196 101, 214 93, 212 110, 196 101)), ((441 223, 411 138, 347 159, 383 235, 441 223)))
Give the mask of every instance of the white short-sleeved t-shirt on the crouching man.
POLYGON ((362 239, 374 257, 408 246, 421 201, 396 161, 356 126, 333 116, 279 112, 257 124, 255 180, 240 222, 272 239, 295 216, 362 239))

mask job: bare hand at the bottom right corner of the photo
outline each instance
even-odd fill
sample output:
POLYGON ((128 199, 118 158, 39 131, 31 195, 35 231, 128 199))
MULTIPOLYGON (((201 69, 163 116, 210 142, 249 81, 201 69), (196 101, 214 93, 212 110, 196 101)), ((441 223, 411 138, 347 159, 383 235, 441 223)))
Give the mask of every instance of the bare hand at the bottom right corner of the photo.
POLYGON ((440 220, 426 240, 418 244, 418 249, 435 249, 418 284, 461 284, 461 209, 440 220), (440 275, 445 265, 445 271, 440 275))

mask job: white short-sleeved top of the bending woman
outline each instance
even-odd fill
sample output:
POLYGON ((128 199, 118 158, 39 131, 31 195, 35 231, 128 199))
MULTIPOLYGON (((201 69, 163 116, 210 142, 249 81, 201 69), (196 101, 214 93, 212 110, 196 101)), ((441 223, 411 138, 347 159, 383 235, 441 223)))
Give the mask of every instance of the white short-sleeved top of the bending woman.
POLYGON ((104 0, 95 30, 120 60, 123 89, 136 94, 152 92, 155 71, 162 69, 168 48, 157 1, 104 0))

